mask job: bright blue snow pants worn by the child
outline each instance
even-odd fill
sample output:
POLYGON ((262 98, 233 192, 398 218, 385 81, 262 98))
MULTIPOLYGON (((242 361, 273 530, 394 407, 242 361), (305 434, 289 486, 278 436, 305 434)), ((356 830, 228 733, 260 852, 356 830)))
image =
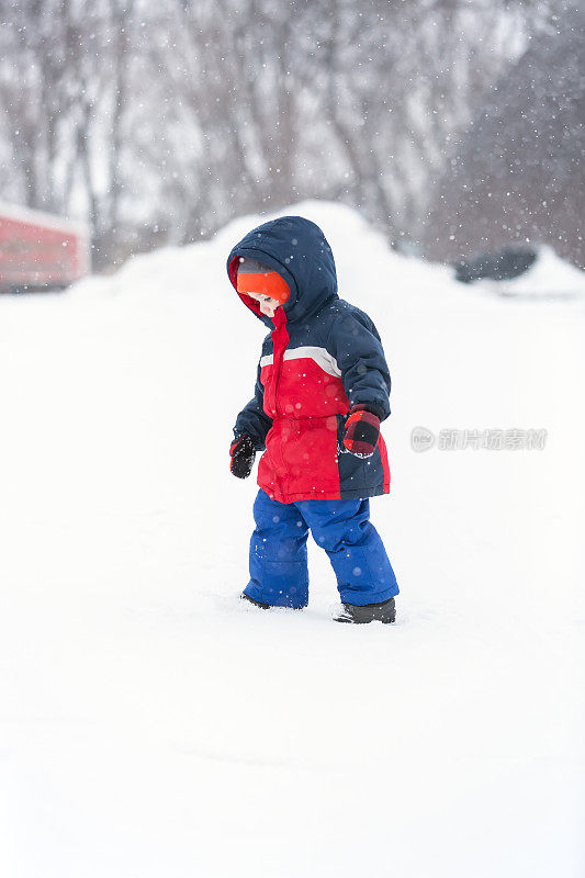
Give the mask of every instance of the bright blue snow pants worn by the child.
POLYGON ((260 488, 254 504, 250 582, 245 593, 275 607, 306 607, 308 530, 327 552, 345 604, 379 604, 398 594, 370 500, 279 503, 260 488))

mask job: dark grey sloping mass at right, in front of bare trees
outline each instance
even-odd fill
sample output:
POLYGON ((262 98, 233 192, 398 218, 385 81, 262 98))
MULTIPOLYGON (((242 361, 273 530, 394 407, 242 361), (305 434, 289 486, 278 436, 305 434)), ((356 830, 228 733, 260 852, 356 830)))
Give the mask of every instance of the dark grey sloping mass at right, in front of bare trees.
POLYGON ((429 257, 545 241, 585 268, 585 8, 535 34, 454 144, 423 233, 429 257))

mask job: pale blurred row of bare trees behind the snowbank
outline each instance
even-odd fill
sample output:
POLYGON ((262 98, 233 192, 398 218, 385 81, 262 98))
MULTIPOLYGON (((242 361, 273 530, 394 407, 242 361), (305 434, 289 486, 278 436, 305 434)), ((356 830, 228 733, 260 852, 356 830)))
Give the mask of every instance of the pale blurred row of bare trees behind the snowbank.
POLYGON ((308 196, 416 243, 458 135, 562 5, 4 0, 0 198, 86 216, 98 264, 308 196))

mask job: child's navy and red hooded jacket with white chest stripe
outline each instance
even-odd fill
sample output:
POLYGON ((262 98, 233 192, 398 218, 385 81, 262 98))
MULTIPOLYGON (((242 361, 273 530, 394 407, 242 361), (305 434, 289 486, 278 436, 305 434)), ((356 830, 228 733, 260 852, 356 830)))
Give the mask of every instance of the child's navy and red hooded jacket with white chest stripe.
POLYGON ((273 499, 351 499, 387 494, 390 471, 380 436, 374 454, 357 458, 342 443, 349 408, 390 414, 390 374, 378 330, 339 299, 335 261, 323 232, 301 216, 283 216, 249 232, 227 259, 236 288, 243 257, 269 266, 291 291, 273 318, 238 293, 272 331, 262 345, 254 398, 234 428, 265 453, 258 484, 273 499))

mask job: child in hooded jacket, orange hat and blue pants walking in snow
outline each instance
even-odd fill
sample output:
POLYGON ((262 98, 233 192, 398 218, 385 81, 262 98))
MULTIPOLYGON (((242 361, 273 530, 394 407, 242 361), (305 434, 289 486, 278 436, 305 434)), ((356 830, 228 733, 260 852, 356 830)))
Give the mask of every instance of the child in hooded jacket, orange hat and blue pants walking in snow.
POLYGON ((393 622, 398 586, 369 520, 368 498, 390 491, 380 435, 390 374, 375 326, 339 299, 331 249, 301 216, 248 233, 229 254, 227 271, 271 330, 229 449, 239 479, 263 450, 241 597, 263 608, 305 607, 311 529, 337 577, 337 621, 393 622))

